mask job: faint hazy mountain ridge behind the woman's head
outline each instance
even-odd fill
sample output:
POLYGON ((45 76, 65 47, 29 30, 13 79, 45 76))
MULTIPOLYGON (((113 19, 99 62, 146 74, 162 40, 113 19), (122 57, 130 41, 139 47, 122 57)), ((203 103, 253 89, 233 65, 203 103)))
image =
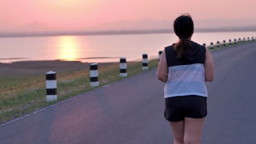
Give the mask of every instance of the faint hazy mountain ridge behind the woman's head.
MULTIPOLYGON (((256 19, 243 19, 243 20, 194 20, 195 28, 248 28, 256 26, 256 19)), ((99 30, 117 30, 117 29, 172 29, 173 21, 156 21, 156 20, 140 20, 140 21, 119 21, 110 22, 104 25, 92 27, 91 29, 99 30)))

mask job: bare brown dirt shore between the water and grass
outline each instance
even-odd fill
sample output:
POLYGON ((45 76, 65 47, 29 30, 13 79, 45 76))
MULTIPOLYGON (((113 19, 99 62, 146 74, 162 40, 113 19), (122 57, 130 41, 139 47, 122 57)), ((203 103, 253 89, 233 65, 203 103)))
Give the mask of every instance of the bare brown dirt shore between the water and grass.
MULTIPOLYGON (((99 67, 115 63, 98 63, 99 67)), ((90 63, 79 61, 21 61, 0 63, 0 79, 15 79, 15 77, 45 75, 47 71, 63 73, 74 70, 89 69, 90 63)))

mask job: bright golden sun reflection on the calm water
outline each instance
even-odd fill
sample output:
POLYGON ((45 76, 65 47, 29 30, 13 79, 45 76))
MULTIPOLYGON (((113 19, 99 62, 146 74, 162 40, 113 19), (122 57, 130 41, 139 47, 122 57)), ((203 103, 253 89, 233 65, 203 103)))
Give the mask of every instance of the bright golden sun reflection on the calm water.
POLYGON ((79 44, 73 36, 63 36, 58 39, 59 58, 62 61, 75 61, 79 58, 79 44))

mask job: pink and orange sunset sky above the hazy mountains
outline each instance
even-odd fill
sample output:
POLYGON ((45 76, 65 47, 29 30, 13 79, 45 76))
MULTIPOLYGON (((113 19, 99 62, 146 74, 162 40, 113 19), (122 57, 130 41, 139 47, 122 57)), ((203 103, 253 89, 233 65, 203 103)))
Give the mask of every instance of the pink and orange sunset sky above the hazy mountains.
POLYGON ((173 21, 182 13, 194 21, 255 22, 255 5, 253 0, 0 0, 0 31, 104 28, 121 21, 173 21))

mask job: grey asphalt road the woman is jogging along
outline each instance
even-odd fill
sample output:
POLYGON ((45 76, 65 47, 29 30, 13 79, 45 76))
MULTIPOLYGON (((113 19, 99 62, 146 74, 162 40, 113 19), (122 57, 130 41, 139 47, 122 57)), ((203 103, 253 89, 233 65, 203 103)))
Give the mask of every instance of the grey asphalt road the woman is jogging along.
MULTIPOLYGON (((256 43, 212 52, 201 143, 256 143, 256 43)), ((172 143, 156 70, 0 127, 0 143, 172 143)))

